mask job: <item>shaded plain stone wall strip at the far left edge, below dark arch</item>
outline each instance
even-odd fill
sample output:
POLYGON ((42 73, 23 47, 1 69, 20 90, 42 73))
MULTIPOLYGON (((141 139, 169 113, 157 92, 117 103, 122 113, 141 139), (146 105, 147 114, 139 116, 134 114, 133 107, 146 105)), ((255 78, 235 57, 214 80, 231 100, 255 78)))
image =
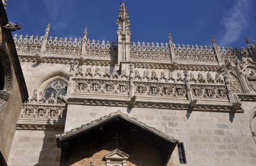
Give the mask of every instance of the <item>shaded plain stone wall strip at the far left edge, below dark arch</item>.
POLYGON ((13 142, 16 122, 18 121, 21 107, 22 97, 19 82, 15 73, 13 73, 9 101, 3 112, 3 118, 0 121, 0 150, 6 161, 11 150, 11 143, 13 142))

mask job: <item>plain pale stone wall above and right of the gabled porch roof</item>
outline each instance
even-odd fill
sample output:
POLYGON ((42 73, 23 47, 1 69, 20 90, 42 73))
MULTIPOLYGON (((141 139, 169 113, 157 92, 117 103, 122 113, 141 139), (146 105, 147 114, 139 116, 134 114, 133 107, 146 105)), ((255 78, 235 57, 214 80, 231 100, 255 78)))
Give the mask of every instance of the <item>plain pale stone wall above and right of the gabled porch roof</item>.
MULTIPOLYGON (((242 102, 245 113, 230 114, 69 105, 65 131, 119 109, 122 113, 129 114, 183 142, 188 165, 255 165, 256 146, 249 123, 254 106, 254 102, 242 102)), ((177 156, 177 150, 175 150, 172 155, 175 157, 174 164, 179 163, 177 156)))

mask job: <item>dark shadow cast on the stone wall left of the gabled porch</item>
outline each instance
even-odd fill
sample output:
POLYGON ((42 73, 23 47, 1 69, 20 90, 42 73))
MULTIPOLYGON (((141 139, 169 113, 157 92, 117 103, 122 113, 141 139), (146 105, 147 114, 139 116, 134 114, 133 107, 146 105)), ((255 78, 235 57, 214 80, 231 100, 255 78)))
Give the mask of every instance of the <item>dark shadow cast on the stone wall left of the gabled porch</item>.
MULTIPOLYGON (((63 133, 64 130, 51 130, 52 126, 57 126, 57 120, 51 123, 48 119, 46 130, 44 130, 44 138, 43 138, 43 146, 42 150, 39 155, 39 161, 35 166, 42 166, 42 165, 59 165, 60 164, 60 157, 61 157, 61 150, 57 148, 55 135, 63 133)), ((58 126, 58 128, 64 128, 62 126, 58 126)))

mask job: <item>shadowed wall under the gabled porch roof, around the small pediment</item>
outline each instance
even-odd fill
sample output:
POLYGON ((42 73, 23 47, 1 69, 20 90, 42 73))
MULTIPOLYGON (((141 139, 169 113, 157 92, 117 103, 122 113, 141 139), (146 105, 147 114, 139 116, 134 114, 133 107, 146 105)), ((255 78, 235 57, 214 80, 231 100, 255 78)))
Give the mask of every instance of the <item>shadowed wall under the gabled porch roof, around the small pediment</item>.
MULTIPOLYGON (((65 159, 64 153, 61 154, 60 165, 104 165, 106 163, 104 156, 115 149, 130 155, 127 160, 127 164, 130 166, 167 165, 164 164, 161 151, 124 131, 109 132, 101 139, 97 138, 71 148, 67 159, 65 159)), ((170 156, 168 156, 168 160, 170 160, 170 156)))

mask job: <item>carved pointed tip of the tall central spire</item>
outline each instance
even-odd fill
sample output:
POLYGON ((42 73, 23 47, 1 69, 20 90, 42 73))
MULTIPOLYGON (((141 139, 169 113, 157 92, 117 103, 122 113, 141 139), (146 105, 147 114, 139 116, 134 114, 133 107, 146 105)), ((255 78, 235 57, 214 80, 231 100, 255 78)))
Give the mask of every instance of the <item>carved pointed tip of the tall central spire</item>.
POLYGON ((119 7, 117 26, 119 32, 130 32, 130 20, 125 7, 125 2, 121 2, 121 6, 119 7))

